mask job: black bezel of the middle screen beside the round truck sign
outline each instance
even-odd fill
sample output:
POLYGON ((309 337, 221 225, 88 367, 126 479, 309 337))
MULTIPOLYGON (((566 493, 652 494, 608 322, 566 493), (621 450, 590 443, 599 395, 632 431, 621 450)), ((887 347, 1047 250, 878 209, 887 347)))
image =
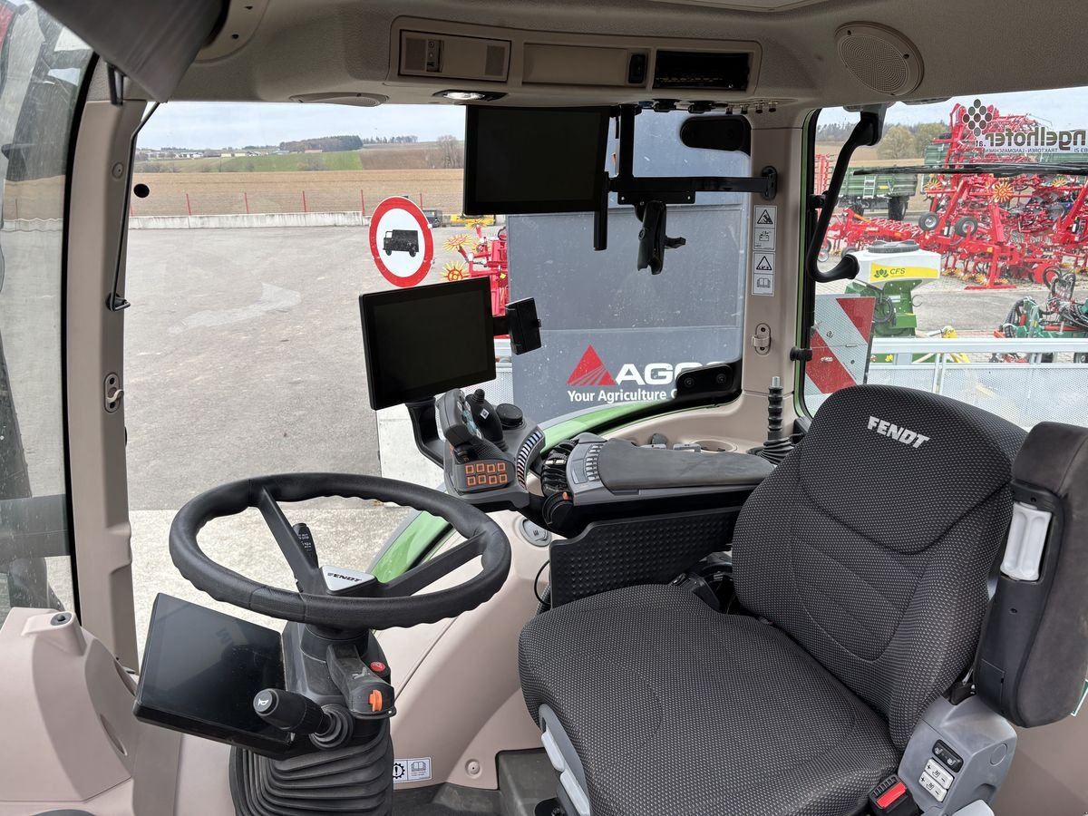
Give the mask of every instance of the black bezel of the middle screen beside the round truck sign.
MULTIPOLYGON (((428 286, 415 286, 404 289, 370 292, 359 296, 359 314, 362 319, 362 346, 367 364, 367 391, 370 396, 370 407, 375 411, 419 399, 428 399, 450 388, 479 385, 480 383, 491 382, 495 379, 495 329, 494 318, 491 313, 490 277, 470 277, 467 281, 435 283, 428 286), (456 288, 452 290, 450 287, 456 288), (394 391, 391 387, 384 387, 381 367, 378 364, 378 345, 382 342, 382 338, 374 335, 375 309, 390 302, 415 302, 431 298, 441 298, 453 294, 453 292, 465 294, 473 289, 477 290, 475 294, 480 297, 481 309, 485 316, 482 327, 485 333, 485 346, 490 349, 486 364, 478 371, 472 371, 461 376, 433 380, 416 388, 394 391)), ((481 362, 483 361, 481 360, 481 362)))

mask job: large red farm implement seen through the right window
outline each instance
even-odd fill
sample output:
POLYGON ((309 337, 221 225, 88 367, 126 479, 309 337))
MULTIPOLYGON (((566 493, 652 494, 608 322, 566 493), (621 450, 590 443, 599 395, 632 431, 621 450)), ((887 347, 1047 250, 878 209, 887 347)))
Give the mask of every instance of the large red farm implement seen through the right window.
POLYGON ((1041 161, 1067 156, 1047 153, 1053 131, 977 100, 956 104, 949 125, 924 165, 854 171, 924 175, 929 209, 917 224, 846 209, 828 231, 826 251, 910 239, 940 252, 947 273, 981 288, 1048 283, 1063 269, 1088 265, 1088 165, 1041 161))

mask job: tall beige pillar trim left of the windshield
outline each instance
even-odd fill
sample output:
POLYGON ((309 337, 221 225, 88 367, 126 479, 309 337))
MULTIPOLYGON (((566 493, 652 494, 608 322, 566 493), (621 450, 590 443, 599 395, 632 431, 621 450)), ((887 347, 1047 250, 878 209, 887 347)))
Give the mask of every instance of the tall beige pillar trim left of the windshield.
MULTIPOLYGON (((99 62, 97 72, 104 72, 99 62)), ((97 81, 96 76, 96 81, 97 81)), ((76 580, 84 626, 136 666, 125 410, 108 412, 104 383, 124 387, 124 312, 106 308, 121 263, 132 135, 144 102, 88 101, 76 134, 67 211, 67 429, 76 580), (119 257, 120 252, 120 257, 119 257)))

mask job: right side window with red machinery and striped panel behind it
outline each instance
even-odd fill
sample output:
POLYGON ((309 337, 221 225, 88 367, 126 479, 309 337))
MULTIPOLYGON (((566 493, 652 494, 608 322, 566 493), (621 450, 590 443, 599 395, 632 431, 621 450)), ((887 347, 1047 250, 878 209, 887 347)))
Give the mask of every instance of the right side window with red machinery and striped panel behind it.
MULTIPOLYGON (((814 189, 857 121, 816 122, 814 189)), ((888 110, 851 160, 817 284, 804 400, 855 383, 961 399, 1025 428, 1088 424, 1088 88, 888 110)))

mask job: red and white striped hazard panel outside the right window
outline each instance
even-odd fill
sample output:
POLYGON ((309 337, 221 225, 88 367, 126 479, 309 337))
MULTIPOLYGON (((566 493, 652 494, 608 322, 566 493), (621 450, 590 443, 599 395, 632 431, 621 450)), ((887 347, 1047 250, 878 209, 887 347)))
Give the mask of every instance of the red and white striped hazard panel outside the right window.
POLYGON ((876 298, 861 295, 817 295, 805 364, 805 405, 815 411, 840 388, 865 382, 873 350, 876 298))

